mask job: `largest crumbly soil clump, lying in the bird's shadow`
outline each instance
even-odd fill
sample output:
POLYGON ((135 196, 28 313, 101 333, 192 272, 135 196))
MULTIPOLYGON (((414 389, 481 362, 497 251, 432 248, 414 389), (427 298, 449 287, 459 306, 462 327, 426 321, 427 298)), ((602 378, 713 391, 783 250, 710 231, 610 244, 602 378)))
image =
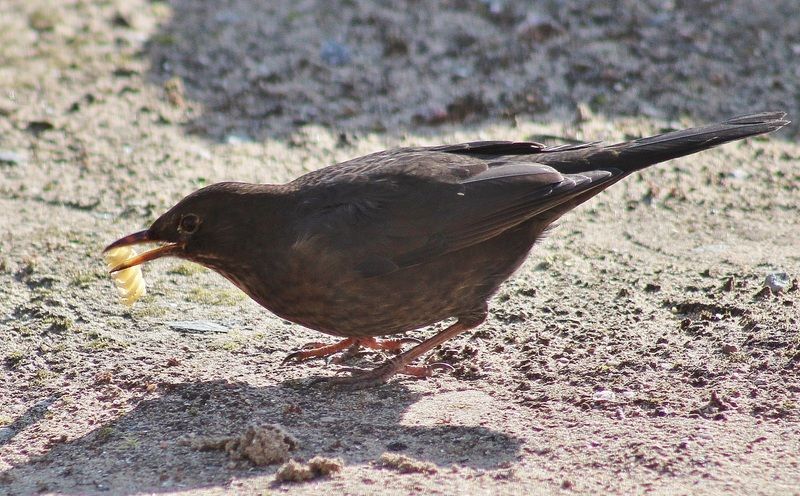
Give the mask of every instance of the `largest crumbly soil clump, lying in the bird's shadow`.
POLYGON ((238 436, 197 436, 182 442, 201 451, 224 450, 231 459, 254 465, 272 465, 289 459, 298 448, 297 439, 275 424, 250 425, 238 436))

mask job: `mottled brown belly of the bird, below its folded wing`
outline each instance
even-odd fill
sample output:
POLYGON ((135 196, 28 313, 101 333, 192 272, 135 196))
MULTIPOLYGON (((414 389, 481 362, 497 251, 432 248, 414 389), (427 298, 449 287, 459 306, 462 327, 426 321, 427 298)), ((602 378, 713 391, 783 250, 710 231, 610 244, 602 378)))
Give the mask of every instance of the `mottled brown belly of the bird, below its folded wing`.
POLYGON ((401 333, 481 307, 525 260, 534 240, 530 229, 522 228, 369 278, 309 270, 315 277, 251 296, 273 313, 327 334, 401 333))

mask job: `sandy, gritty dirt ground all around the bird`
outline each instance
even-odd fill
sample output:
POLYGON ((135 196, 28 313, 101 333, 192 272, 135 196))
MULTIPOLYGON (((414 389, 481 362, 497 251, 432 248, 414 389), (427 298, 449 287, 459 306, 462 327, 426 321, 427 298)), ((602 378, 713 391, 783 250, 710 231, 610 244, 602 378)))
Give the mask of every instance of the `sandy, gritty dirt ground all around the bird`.
POLYGON ((376 4, 0 2, 0 493, 799 494, 796 124, 565 217, 452 375, 309 388, 340 365, 281 362, 324 336, 179 261, 119 303, 103 246, 212 182, 800 120, 795 0, 376 4), (186 442, 270 424, 341 469, 186 442))

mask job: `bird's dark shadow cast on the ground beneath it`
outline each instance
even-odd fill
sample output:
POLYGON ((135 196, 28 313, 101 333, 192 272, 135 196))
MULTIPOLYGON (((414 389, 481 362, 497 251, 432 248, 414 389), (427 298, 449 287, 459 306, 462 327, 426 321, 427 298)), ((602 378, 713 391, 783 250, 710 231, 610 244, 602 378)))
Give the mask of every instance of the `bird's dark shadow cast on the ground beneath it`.
POLYGON ((282 426, 299 442, 295 458, 338 457, 345 465, 369 464, 382 453, 397 452, 439 467, 491 469, 514 460, 521 445, 512 435, 480 425, 404 422, 407 409, 426 395, 403 383, 336 392, 290 381, 258 387, 215 380, 163 384, 159 391, 159 397, 141 400, 80 438, 54 442, 43 455, 0 474, 0 482, 11 494, 139 494, 225 486, 272 473, 276 465, 233 464, 222 451, 198 451, 181 440, 237 436, 248 425, 282 426))

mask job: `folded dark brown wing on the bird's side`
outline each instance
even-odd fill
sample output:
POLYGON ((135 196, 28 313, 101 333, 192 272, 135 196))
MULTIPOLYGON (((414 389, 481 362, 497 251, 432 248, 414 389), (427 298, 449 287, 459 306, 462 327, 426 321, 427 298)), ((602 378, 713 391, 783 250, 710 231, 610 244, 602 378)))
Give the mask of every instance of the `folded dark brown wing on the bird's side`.
POLYGON ((453 146, 477 148, 481 157, 449 149, 401 150, 370 168, 358 162, 325 171, 301 206, 298 239, 324 237, 326 246, 352 257, 361 275, 380 275, 493 238, 614 175, 562 174, 532 157, 515 157, 519 152, 506 153, 529 149, 530 143, 453 146), (502 147, 508 148, 495 155, 502 147))

